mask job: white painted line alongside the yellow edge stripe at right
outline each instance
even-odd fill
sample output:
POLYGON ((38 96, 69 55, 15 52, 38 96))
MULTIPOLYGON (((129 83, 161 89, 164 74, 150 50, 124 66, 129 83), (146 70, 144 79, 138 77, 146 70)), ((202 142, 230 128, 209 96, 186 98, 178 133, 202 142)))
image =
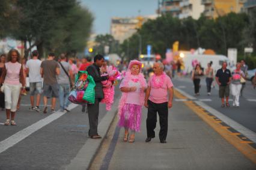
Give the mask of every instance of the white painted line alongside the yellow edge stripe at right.
MULTIPOLYGON (((178 92, 186 96, 185 92, 182 90, 179 90, 178 88, 175 88, 178 92)), ((191 97, 190 95, 186 96, 187 98, 191 97)), ((245 135, 247 138, 249 138, 252 142, 256 143, 256 133, 252 132, 251 130, 247 129, 246 127, 242 126, 242 124, 237 123, 236 121, 232 120, 231 118, 225 116, 219 111, 216 111, 216 109, 213 109, 209 105, 206 105, 206 103, 203 103, 201 101, 195 101, 197 105, 201 106, 202 108, 209 111, 211 114, 215 115, 215 117, 218 117, 220 120, 222 120, 224 123, 228 124, 228 126, 233 127, 233 129, 236 129, 238 132, 245 135)))

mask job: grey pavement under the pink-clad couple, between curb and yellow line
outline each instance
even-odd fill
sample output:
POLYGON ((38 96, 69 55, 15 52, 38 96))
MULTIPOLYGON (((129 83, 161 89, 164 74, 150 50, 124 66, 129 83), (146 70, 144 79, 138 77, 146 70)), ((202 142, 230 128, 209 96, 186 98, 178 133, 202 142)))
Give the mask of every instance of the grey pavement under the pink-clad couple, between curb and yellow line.
POLYGON ((143 109, 141 132, 132 144, 123 142, 124 130, 115 127, 115 121, 105 139, 109 146, 103 144, 91 169, 256 169, 183 102, 174 102, 169 110, 166 144, 159 142, 159 122, 156 138, 145 143, 146 118, 147 110, 143 109))

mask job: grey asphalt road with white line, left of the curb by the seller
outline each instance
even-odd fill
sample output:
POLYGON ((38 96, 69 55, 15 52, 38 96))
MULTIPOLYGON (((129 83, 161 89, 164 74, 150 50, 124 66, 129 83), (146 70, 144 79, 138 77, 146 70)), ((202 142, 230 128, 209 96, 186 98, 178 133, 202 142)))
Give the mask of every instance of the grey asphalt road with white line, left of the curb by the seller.
MULTIPOLYGON (((119 95, 120 91, 116 90, 115 97, 119 95)), ((47 118, 55 115, 58 115, 58 118, 0 152, 0 169, 64 169, 88 139, 88 115, 82 114, 81 106, 75 107, 69 113, 58 112, 55 115, 28 111, 28 108, 29 96, 23 96, 22 106, 16 115, 17 126, 2 125, 6 117, 4 111, 0 112, 0 142, 14 134, 17 138, 22 138, 24 133, 21 130, 26 127, 43 124, 47 118)), ((101 104, 99 122, 106 113, 105 105, 101 104)))

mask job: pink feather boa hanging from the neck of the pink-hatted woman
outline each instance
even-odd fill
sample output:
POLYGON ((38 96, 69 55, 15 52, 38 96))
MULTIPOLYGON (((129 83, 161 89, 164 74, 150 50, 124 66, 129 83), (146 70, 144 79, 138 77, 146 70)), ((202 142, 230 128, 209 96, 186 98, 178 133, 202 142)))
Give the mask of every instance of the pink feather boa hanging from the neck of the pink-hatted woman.
MULTIPOLYGON (((130 71, 127 71, 125 76, 124 76, 124 79, 123 79, 124 87, 129 87, 128 83, 131 79, 132 79, 132 73, 130 71)), ((139 79, 139 83, 141 83, 141 87, 147 88, 147 83, 145 83, 145 81, 144 81, 145 78, 144 78, 144 75, 142 73, 139 73, 138 79, 139 79)), ((141 101, 141 106, 143 106, 144 105, 144 98, 145 98, 144 91, 141 91, 140 98, 141 98, 141 100, 140 100, 141 101)), ((127 99, 127 93, 123 92, 122 96, 121 96, 121 99, 119 101, 119 105, 118 105, 118 115, 119 116, 121 114, 123 106, 126 104, 126 99, 127 99)))

